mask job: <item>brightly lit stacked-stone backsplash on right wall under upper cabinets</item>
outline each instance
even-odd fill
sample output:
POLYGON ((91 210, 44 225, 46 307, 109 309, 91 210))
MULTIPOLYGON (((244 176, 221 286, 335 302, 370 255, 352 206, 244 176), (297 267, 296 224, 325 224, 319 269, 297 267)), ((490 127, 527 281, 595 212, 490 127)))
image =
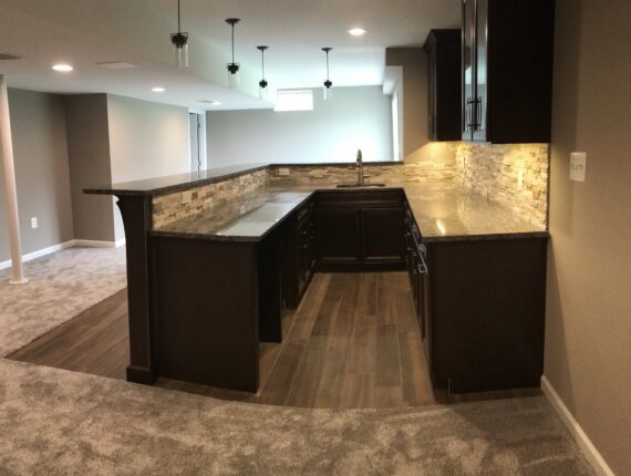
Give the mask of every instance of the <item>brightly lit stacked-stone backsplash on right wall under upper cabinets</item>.
POLYGON ((511 208, 531 224, 547 225, 548 144, 454 146, 459 186, 511 208))

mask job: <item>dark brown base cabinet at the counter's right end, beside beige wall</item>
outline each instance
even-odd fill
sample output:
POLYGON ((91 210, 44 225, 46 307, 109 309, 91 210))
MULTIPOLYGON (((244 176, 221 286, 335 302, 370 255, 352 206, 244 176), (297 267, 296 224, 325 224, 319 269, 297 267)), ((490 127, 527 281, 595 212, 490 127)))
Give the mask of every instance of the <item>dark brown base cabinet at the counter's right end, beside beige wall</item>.
POLYGON ((539 386, 548 238, 427 244, 421 280, 431 376, 449 392, 539 386))

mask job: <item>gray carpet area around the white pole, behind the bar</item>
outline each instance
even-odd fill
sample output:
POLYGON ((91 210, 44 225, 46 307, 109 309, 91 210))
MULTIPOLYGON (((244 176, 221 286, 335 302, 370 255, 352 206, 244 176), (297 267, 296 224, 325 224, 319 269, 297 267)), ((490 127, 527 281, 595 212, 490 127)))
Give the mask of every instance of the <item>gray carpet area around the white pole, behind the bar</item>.
POLYGON ((0 355, 32 342, 127 286, 125 248, 70 248, 24 265, 29 283, 0 271, 0 355))

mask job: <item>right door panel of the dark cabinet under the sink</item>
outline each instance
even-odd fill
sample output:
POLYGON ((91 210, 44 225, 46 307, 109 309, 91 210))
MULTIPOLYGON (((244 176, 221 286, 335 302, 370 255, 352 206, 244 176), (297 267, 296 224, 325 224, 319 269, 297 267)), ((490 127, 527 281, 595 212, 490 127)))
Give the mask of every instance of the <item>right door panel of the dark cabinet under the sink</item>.
POLYGON ((403 208, 365 208, 362 217, 362 257, 365 262, 405 259, 403 208))

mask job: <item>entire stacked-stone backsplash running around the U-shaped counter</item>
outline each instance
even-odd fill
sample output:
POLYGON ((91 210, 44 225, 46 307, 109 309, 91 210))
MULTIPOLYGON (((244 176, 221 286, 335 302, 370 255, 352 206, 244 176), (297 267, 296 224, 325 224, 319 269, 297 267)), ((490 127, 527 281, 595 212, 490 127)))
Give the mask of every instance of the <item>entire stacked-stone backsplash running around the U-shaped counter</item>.
MULTIPOLYGON (((546 227, 548 213, 548 145, 489 145, 448 143, 431 159, 386 165, 364 164, 371 183, 423 184, 433 190, 464 188, 499 203, 523 219, 546 227)), ((277 165, 225 182, 195 187, 186 193, 154 197, 154 228, 213 207, 266 185, 318 185, 354 183, 353 165, 277 165), (280 175, 288 168, 289 176, 280 175)))

